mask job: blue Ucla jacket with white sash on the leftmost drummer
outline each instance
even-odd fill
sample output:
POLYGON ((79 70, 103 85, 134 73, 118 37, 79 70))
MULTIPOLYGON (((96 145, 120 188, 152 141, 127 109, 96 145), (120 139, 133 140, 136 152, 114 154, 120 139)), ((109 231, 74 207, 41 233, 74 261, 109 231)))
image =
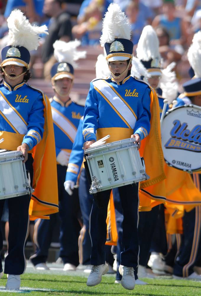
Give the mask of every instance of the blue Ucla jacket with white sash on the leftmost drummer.
POLYGON ((24 82, 12 88, 0 85, 0 131, 25 134, 22 144, 31 150, 43 137, 44 105, 41 92, 24 82))

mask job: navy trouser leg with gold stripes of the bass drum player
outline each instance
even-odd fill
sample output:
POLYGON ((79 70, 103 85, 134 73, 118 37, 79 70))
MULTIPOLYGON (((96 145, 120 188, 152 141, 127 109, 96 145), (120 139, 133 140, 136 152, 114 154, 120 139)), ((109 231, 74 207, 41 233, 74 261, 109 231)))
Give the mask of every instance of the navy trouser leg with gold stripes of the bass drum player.
POLYGON ((187 277, 193 273, 193 267, 200 260, 201 254, 201 206, 185 212, 183 235, 179 254, 174 264, 174 275, 187 277))

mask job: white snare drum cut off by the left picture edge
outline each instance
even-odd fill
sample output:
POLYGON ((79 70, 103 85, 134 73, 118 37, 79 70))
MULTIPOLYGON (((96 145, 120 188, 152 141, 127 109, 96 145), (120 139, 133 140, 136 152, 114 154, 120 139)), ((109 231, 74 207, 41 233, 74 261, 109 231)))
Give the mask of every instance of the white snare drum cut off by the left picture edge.
POLYGON ((21 151, 0 153, 0 199, 30 194, 30 187, 21 151))

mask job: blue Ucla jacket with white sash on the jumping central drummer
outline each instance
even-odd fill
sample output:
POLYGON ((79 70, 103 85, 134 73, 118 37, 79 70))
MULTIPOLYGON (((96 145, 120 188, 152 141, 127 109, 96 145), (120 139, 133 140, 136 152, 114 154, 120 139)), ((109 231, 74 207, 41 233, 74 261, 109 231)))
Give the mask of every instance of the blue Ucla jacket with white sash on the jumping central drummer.
POLYGON ((96 140, 99 128, 129 128, 140 139, 146 137, 150 131, 150 92, 147 83, 131 76, 121 84, 111 77, 94 79, 85 103, 85 141, 96 140))

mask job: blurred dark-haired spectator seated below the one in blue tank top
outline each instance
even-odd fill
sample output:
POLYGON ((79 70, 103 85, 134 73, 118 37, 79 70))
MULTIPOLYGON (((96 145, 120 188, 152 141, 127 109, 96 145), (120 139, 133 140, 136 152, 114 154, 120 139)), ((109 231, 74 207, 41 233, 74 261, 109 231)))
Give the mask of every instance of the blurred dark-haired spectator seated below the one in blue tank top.
POLYGON ((171 44, 168 31, 163 27, 157 27, 156 35, 159 40, 159 52, 163 58, 164 67, 167 67, 171 62, 179 62, 184 53, 184 49, 180 44, 171 44))

